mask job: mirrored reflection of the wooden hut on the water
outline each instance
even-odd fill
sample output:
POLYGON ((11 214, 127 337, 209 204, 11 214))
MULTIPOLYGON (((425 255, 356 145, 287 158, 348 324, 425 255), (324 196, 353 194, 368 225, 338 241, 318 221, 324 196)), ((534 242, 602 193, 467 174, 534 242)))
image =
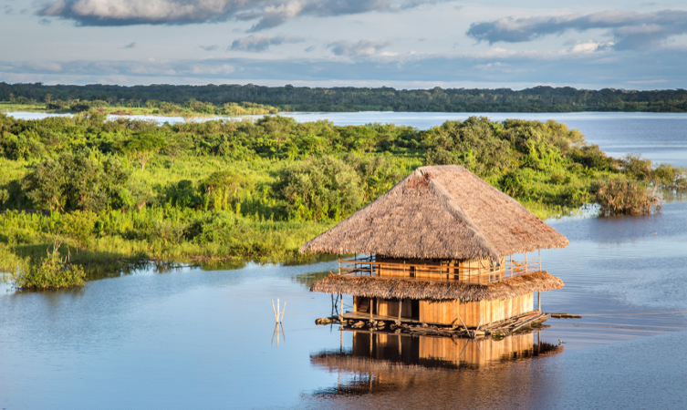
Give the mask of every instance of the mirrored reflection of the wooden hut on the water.
MULTIPOLYGON (((310 356, 316 367, 330 373, 349 375, 339 379, 336 389, 318 392, 324 395, 346 395, 399 390, 436 384, 433 370, 489 368, 513 360, 557 354, 563 346, 537 341, 538 333, 492 338, 465 339, 415 336, 401 333, 352 332, 350 349, 325 351, 310 356)), ((501 372, 497 372, 501 374, 501 372)), ((461 372, 444 374, 441 379, 475 383, 474 377, 461 372)), ((476 383, 486 383, 476 382, 476 383)), ((466 389, 464 383, 453 385, 466 389)))

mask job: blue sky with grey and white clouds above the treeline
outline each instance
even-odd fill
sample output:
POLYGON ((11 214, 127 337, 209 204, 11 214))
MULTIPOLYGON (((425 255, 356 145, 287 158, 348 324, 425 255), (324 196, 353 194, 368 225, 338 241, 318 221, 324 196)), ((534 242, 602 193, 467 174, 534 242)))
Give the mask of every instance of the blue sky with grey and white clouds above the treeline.
POLYGON ((687 1, 0 0, 0 81, 687 88, 687 1))

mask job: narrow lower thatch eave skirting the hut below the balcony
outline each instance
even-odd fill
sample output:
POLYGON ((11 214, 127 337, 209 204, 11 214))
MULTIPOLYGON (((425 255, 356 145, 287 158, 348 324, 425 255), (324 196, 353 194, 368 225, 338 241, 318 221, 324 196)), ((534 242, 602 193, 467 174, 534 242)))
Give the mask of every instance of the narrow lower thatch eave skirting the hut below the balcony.
POLYGON ((310 292, 383 299, 459 299, 461 302, 479 302, 503 301, 531 292, 554 291, 562 287, 563 281, 560 278, 545 271, 525 273, 500 282, 484 284, 330 274, 313 283, 310 292))

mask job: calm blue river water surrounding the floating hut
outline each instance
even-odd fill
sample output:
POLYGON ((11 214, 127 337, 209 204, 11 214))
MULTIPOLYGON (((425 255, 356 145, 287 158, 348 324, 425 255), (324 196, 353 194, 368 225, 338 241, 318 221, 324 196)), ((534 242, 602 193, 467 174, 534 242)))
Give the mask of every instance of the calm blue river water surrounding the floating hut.
MULTIPOLYGON (((393 122, 418 128, 442 122, 399 114, 393 122)), ((610 152, 687 162, 684 115, 490 116, 569 116, 610 152)), ((547 220, 570 245, 542 251, 544 269, 566 283, 543 293, 542 308, 583 317, 500 342, 317 326, 331 299, 309 283, 336 261, 151 269, 57 292, 4 288, 0 408, 684 408, 687 315, 627 314, 687 311, 687 200, 666 200, 648 217, 547 220), (278 333, 277 298, 286 302, 278 333)))

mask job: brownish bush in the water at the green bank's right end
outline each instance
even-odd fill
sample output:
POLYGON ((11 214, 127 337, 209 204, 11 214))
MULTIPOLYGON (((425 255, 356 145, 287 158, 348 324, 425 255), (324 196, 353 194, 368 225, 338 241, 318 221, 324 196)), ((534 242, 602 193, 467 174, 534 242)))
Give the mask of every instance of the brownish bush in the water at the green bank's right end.
POLYGON ((604 215, 648 215, 661 209, 659 197, 634 180, 602 179, 594 182, 591 190, 604 215))

